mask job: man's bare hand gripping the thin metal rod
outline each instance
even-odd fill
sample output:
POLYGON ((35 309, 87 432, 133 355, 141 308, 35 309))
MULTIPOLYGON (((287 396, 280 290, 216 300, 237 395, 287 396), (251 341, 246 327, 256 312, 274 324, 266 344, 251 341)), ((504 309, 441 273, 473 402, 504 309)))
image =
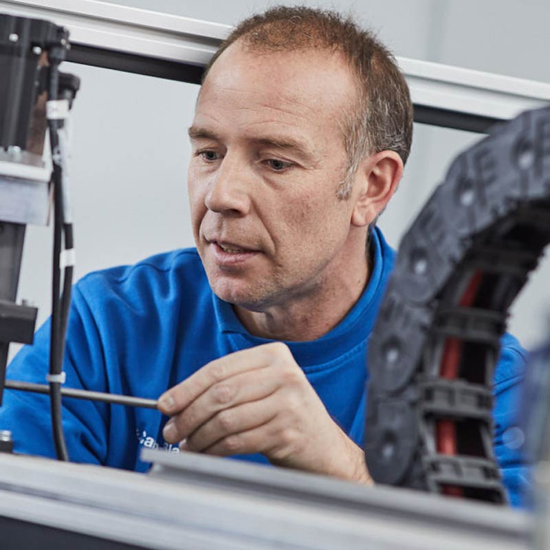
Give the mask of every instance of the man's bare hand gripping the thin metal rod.
POLYGON ((159 398, 168 443, 372 483, 364 453, 331 419, 285 344, 212 361, 159 398))

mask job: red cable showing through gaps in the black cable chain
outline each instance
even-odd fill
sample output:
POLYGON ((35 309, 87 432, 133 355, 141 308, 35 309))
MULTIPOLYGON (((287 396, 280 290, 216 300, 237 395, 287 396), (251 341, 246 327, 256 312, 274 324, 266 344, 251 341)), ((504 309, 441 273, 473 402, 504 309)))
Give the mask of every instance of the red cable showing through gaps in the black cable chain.
MULTIPOLYGON (((461 307, 471 307, 476 298, 483 274, 481 272, 474 273, 470 284, 459 302, 461 307)), ((443 348, 443 359, 441 361, 442 378, 455 380, 459 375, 459 366, 462 352, 462 342, 457 338, 447 338, 445 347, 443 348)), ((438 420, 436 423, 437 437, 437 452, 454 456, 456 450, 456 424, 452 420, 438 420)), ((443 487, 443 494, 451 496, 463 496, 461 487, 446 486, 443 487)))

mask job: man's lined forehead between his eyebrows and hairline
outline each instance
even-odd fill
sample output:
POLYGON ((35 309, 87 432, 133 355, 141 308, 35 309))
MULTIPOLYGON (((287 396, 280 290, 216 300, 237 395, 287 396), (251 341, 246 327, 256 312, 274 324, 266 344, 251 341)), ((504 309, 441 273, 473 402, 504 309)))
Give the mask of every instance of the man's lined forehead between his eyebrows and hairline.
POLYGON ((196 115, 232 124, 271 120, 306 131, 329 131, 340 128, 355 93, 355 80, 338 52, 258 53, 237 42, 212 65, 196 115))

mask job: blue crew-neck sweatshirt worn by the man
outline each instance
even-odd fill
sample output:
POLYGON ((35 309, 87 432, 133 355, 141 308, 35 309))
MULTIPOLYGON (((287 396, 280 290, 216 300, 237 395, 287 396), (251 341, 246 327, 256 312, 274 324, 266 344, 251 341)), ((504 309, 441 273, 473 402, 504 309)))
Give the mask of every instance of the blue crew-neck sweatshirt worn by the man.
MULTIPOLYGON (((391 274, 395 252, 373 232, 373 272, 349 314, 318 340, 286 342, 296 362, 349 437, 362 445, 366 345, 391 274)), ((8 377, 45 382, 50 322, 8 367, 8 377)), ((195 249, 159 254, 136 265, 94 272, 73 292, 63 369, 66 386, 157 399, 204 364, 269 342, 251 336, 232 306, 212 294, 195 249)), ((495 450, 511 502, 520 502, 525 467, 503 443, 514 423, 525 359, 507 335, 496 369, 495 450)), ((162 438, 157 410, 63 399, 63 428, 73 461, 144 472, 140 447, 179 452, 162 438)), ((12 430, 15 450, 55 456, 46 396, 6 390, 0 428, 12 430)), ((267 462, 260 454, 237 458, 267 462)))

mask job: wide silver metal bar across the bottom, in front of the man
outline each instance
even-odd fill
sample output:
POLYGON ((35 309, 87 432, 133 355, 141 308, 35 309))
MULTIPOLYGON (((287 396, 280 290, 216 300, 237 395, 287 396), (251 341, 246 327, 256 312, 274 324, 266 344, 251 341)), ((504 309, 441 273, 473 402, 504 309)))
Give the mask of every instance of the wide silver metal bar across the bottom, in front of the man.
POLYGON ((170 471, 165 459, 184 464, 186 476, 0 456, 0 516, 167 550, 528 547, 532 519, 511 509, 196 454, 155 456, 170 471))

